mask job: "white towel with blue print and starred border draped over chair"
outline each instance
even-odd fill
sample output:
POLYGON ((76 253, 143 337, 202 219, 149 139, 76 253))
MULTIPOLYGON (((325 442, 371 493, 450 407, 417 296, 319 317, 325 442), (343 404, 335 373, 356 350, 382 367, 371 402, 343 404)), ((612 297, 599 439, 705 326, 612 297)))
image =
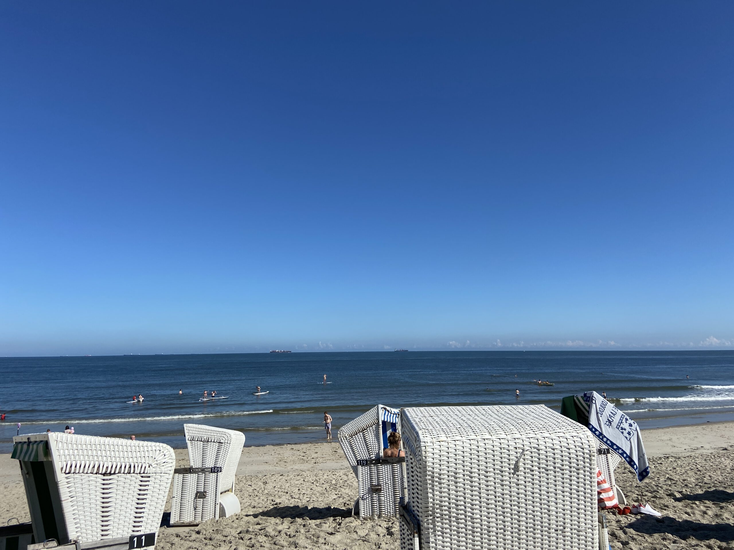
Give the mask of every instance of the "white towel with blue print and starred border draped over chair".
POLYGON ((630 465, 637 480, 644 480, 650 475, 650 466, 637 422, 597 392, 585 392, 583 400, 589 406, 589 430, 630 465))

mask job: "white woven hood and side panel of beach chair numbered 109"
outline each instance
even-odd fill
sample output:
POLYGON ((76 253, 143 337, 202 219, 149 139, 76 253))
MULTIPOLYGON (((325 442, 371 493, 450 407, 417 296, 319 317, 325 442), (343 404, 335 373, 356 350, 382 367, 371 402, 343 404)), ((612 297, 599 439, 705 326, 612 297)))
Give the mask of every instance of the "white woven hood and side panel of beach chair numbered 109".
POLYGON ((234 491, 235 472, 244 447, 244 433, 200 424, 184 424, 191 466, 221 466, 219 492, 234 491))

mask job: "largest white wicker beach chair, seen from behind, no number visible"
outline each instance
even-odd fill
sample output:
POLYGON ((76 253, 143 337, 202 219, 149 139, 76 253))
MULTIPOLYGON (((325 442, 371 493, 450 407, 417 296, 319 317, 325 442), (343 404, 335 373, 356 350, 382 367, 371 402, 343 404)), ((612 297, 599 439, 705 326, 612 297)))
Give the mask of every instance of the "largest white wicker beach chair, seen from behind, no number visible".
POLYGON ((402 550, 597 550, 596 440, 542 405, 401 410, 402 550))

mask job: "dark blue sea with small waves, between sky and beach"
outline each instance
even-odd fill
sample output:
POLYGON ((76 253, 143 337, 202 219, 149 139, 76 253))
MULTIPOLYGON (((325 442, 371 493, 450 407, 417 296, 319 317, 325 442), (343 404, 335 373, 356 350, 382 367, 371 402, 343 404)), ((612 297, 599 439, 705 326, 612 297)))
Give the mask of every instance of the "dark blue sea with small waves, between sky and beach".
POLYGON ((560 408, 589 390, 642 428, 734 419, 734 352, 407 351, 0 358, 0 452, 63 430, 185 447, 184 422, 241 430, 246 445, 322 441, 377 403, 560 408), (327 375, 330 384, 323 384, 327 375), (686 378, 688 375, 689 378, 686 378), (538 386, 534 380, 551 381, 538 386), (261 386, 266 395, 252 395, 261 386), (200 402, 204 390, 227 399, 200 402), (520 397, 515 397, 515 389, 520 397), (179 395, 179 390, 182 394, 179 395), (126 403, 133 395, 142 403, 126 403))

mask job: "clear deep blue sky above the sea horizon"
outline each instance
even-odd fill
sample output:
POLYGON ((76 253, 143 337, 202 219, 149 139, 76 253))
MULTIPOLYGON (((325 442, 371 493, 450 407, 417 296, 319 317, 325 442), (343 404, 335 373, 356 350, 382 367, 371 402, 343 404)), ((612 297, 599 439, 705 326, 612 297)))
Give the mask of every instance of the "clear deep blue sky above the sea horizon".
POLYGON ((729 1, 0 5, 0 355, 734 346, 729 1))

